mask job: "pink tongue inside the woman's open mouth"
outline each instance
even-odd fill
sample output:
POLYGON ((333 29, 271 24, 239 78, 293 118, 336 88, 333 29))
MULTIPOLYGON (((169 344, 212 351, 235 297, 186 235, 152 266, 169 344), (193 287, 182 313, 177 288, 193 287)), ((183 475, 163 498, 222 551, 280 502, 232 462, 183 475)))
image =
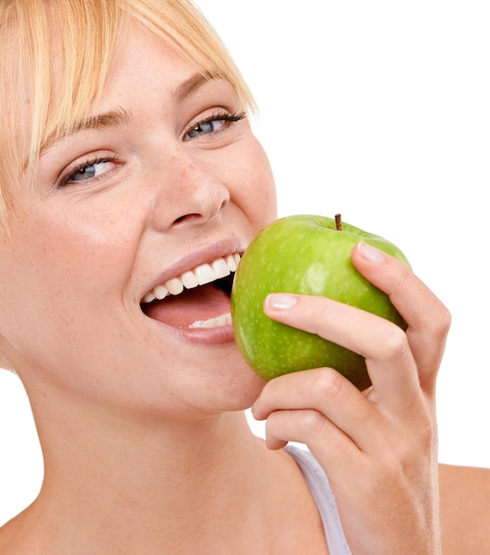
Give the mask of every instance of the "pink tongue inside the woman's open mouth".
POLYGON ((143 309, 146 316, 162 324, 188 327, 229 312, 229 295, 216 285, 202 285, 184 290, 180 295, 170 295, 163 301, 153 301, 143 309))

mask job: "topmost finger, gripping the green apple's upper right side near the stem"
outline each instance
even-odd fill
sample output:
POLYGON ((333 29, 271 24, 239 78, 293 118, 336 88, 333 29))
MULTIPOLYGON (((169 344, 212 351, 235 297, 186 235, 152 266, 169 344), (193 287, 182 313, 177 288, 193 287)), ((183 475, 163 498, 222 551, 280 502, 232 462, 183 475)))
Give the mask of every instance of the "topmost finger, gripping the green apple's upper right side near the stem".
POLYGON ((354 246, 355 267, 390 297, 408 324, 407 337, 424 391, 433 393, 451 317, 446 306, 405 264, 366 243, 354 246))

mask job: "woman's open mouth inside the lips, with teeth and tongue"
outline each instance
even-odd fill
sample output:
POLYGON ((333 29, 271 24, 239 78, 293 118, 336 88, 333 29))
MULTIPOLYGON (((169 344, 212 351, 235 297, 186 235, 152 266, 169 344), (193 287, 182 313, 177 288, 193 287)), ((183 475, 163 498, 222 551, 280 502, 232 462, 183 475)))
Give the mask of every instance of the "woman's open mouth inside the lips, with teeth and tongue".
POLYGON ((178 328, 216 328, 231 324, 229 294, 241 254, 200 264, 157 285, 144 295, 144 314, 178 328))

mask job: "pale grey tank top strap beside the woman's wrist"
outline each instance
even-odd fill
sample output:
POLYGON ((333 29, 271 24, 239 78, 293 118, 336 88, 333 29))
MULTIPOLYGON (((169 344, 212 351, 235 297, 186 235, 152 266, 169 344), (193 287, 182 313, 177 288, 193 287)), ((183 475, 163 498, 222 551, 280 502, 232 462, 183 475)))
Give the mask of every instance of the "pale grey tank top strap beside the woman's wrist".
POLYGON ((299 449, 292 445, 287 445, 284 450, 296 461, 305 477, 307 486, 311 491, 323 521, 323 529, 330 554, 352 555, 347 545, 342 524, 340 523, 335 497, 323 468, 307 450, 299 449))

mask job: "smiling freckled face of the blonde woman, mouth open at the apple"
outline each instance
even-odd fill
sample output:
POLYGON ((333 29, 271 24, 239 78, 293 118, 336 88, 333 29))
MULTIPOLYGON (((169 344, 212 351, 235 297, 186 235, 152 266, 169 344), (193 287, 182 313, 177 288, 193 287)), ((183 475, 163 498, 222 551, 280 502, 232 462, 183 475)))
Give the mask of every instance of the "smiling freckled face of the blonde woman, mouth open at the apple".
POLYGON ((229 82, 203 81, 136 30, 102 98, 16 193, 0 347, 43 390, 138 409, 246 406, 262 384, 218 277, 276 217, 261 145, 229 82))

